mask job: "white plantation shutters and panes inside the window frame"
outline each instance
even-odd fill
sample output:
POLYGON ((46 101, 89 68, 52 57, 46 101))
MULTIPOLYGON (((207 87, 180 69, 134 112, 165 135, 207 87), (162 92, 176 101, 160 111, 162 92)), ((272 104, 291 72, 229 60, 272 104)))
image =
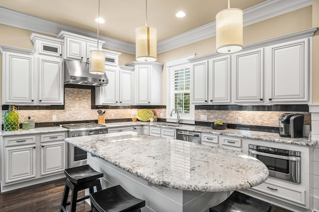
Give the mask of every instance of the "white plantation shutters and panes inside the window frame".
POLYGON ((170 108, 176 108, 180 114, 190 113, 190 69, 178 69, 170 72, 170 108))

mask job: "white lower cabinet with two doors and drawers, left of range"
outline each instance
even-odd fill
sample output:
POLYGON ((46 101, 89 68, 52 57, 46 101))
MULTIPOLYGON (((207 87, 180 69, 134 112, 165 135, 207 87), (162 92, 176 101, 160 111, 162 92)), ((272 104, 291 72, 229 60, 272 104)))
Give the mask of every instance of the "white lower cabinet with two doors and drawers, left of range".
POLYGON ((1 136, 1 192, 64 176, 66 132, 1 136))

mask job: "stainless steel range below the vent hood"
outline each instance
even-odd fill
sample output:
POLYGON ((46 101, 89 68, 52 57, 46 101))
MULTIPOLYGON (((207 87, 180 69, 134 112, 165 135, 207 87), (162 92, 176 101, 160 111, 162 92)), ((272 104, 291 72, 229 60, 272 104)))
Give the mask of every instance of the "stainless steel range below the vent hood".
MULTIPOLYGON (((67 128, 68 137, 78 137, 108 133, 108 127, 97 123, 61 124, 67 128)), ((68 143, 68 168, 87 164, 87 153, 82 149, 68 143)))

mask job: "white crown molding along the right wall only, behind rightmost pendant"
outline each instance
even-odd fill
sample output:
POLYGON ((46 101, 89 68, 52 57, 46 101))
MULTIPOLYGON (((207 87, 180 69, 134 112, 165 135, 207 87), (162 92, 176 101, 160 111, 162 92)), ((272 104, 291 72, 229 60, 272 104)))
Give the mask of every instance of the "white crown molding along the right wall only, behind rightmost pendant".
MULTIPOLYGON (((247 26, 309 5, 312 0, 267 0, 250 8, 244 9, 243 25, 247 26)), ((158 53, 166 52, 184 45, 216 36, 216 23, 210 22, 158 42, 158 53)))

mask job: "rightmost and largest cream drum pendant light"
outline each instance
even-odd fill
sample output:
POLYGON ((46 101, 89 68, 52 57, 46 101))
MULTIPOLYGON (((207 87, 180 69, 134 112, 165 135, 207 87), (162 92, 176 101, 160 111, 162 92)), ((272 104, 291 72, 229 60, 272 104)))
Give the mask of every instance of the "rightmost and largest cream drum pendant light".
POLYGON ((234 53, 243 49, 243 10, 229 8, 216 15, 216 52, 234 53))

